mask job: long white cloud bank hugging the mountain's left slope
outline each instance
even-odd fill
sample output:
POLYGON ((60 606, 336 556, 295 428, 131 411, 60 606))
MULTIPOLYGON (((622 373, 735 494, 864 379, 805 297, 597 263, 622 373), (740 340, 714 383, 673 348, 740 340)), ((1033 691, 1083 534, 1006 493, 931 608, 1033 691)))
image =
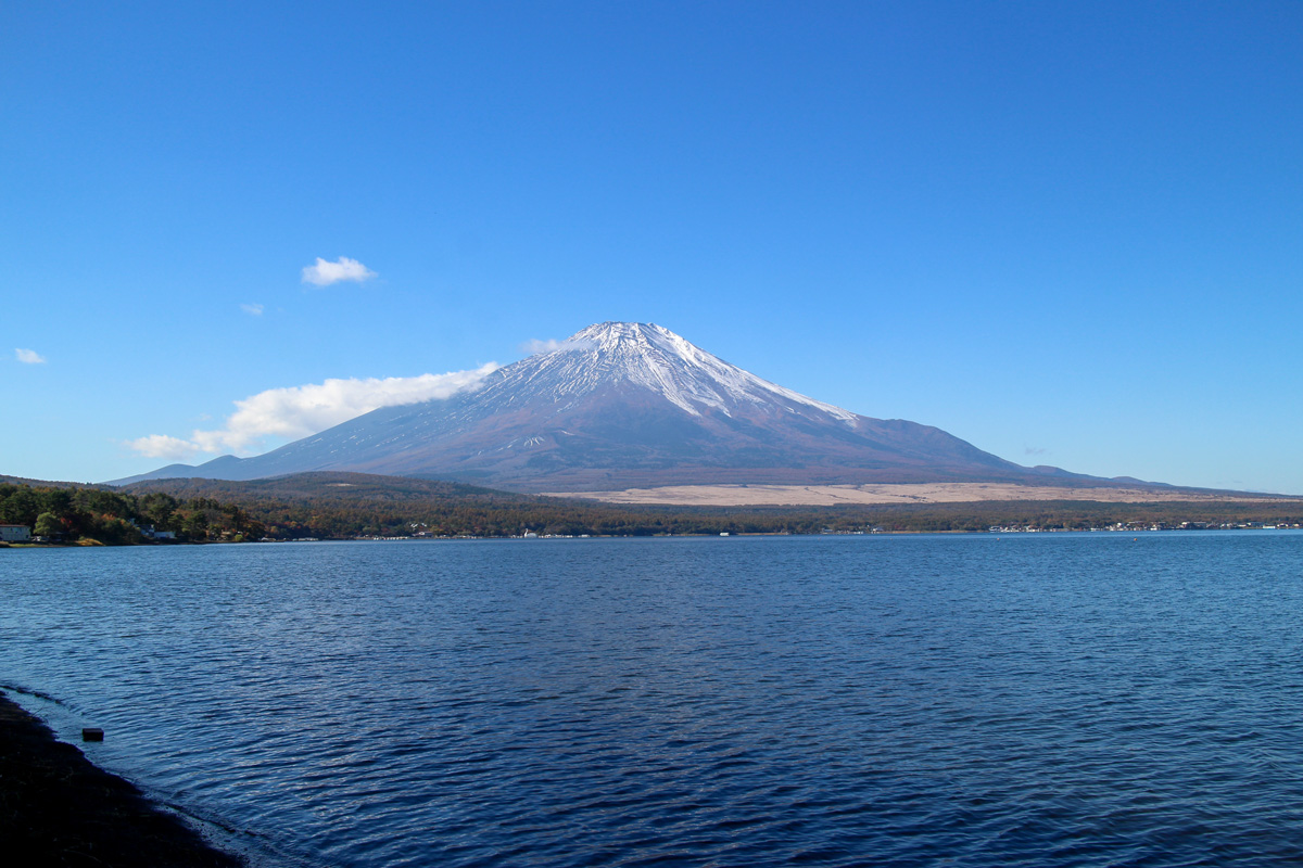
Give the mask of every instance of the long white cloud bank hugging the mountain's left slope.
POLYGON ((261 450, 266 439, 294 440, 324 431, 378 407, 447 398, 478 388, 498 370, 494 363, 473 371, 422 373, 414 377, 326 380, 309 385, 267 389, 236 401, 222 428, 197 429, 189 440, 150 435, 126 445, 150 458, 179 459, 198 453, 261 450))

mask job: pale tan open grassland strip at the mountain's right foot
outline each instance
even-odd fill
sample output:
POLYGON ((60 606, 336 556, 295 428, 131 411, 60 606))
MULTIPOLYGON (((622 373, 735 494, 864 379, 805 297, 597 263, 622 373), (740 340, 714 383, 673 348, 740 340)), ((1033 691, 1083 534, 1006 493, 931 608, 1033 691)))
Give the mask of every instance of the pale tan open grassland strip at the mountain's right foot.
POLYGON ((963 504, 1012 500, 1079 500, 1105 504, 1267 502, 1277 497, 1162 488, 1062 488, 1014 483, 923 483, 869 485, 666 485, 609 492, 551 492, 605 504, 671 506, 847 506, 874 504, 963 504))

